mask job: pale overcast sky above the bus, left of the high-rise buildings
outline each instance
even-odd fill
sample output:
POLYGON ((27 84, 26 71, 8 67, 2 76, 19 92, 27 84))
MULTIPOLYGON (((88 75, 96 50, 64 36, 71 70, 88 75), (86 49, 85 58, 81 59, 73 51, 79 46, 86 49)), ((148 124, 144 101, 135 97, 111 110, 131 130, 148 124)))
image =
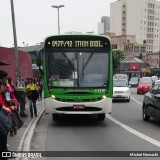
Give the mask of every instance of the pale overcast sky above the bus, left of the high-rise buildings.
MULTIPOLYGON (((92 32, 97 34, 102 16, 110 16, 110 3, 117 0, 13 0, 17 45, 32 46, 45 37, 60 33, 92 32)), ((0 0, 0 46, 13 47, 13 27, 10 0, 0 0)))

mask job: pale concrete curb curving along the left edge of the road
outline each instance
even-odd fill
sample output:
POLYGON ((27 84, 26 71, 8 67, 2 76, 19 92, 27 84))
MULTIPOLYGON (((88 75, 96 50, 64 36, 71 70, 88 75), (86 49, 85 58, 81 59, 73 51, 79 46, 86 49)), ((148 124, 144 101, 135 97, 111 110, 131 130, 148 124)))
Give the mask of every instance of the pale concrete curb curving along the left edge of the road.
MULTIPOLYGON (((36 125, 39 122, 41 116, 43 115, 44 111, 45 111, 45 107, 42 107, 38 113, 38 116, 31 121, 31 123, 29 124, 29 126, 25 130, 25 132, 21 138, 19 147, 18 147, 19 152, 20 151, 30 151, 30 146, 31 146, 34 130, 35 130, 36 125)), ((17 157, 16 160, 22 160, 22 157, 17 157)), ((29 160, 29 158, 23 157, 23 160, 29 160)))

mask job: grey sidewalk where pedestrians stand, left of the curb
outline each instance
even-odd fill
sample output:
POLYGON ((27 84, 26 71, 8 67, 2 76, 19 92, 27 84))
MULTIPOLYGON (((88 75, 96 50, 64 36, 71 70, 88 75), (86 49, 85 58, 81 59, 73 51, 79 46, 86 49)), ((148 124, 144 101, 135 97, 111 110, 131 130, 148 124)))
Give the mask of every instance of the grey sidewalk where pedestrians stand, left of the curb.
MULTIPOLYGON (((27 130, 27 127, 29 125, 31 125, 31 123, 33 121, 35 121, 36 118, 40 118, 39 116, 37 117, 34 117, 34 118, 31 118, 30 117, 30 111, 29 111, 29 104, 28 102, 26 103, 26 109, 25 109, 25 113, 28 115, 27 117, 21 117, 24 124, 23 126, 17 130, 17 134, 14 135, 14 136, 10 136, 10 134, 8 134, 8 144, 9 144, 9 147, 8 147, 8 150, 10 151, 18 151, 20 149, 20 146, 23 145, 21 143, 23 143, 23 140, 24 140, 24 134, 27 130)), ((39 114, 40 113, 40 110, 44 107, 44 103, 43 101, 37 101, 37 113, 39 114)))

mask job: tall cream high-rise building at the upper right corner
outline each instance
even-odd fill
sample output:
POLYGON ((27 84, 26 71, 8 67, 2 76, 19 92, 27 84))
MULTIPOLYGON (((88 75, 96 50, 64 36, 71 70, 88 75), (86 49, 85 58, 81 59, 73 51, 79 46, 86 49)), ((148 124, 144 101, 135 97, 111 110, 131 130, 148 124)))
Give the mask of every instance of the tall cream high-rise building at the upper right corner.
POLYGON ((137 43, 146 40, 146 52, 160 50, 160 1, 119 0, 111 3, 110 31, 135 35, 137 43))

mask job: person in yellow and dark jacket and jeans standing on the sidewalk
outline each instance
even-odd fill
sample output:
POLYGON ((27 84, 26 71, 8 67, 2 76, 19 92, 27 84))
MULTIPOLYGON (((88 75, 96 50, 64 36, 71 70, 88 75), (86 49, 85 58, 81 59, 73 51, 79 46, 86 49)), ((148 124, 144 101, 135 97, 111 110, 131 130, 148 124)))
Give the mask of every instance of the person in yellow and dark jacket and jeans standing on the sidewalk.
POLYGON ((30 116, 33 118, 33 110, 34 115, 37 117, 37 107, 36 107, 36 101, 39 97, 38 93, 38 87, 36 84, 33 83, 33 79, 31 78, 29 80, 29 84, 26 87, 26 95, 29 101, 29 107, 30 107, 30 116))

